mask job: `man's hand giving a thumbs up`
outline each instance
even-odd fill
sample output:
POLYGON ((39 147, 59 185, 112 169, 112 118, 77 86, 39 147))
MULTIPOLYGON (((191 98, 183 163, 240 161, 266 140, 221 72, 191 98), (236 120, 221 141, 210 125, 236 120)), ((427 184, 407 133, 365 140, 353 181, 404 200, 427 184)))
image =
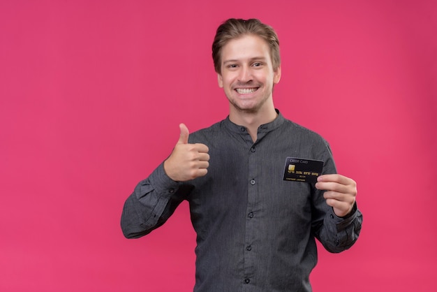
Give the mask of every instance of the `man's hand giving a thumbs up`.
POLYGON ((164 161, 165 173, 176 182, 186 182, 207 174, 208 147, 205 144, 188 144, 190 132, 185 124, 179 124, 181 136, 172 154, 164 161))

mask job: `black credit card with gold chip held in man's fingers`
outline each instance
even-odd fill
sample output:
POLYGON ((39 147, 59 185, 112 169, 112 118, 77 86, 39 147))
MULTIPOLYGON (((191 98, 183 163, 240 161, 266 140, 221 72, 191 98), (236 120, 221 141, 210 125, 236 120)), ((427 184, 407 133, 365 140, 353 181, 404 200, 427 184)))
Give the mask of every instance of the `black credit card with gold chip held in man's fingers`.
POLYGON ((287 157, 283 180, 316 183, 317 177, 322 175, 322 171, 323 161, 287 157))

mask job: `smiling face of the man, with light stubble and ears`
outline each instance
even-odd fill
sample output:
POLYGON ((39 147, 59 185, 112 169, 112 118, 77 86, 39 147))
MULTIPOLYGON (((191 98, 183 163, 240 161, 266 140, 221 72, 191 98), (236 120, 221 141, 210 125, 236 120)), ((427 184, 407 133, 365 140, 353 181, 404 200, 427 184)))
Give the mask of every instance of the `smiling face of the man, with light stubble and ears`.
POLYGON ((280 78, 281 68, 273 70, 269 46, 259 36, 245 35, 223 46, 218 86, 223 87, 231 110, 260 111, 272 99, 273 85, 280 78))

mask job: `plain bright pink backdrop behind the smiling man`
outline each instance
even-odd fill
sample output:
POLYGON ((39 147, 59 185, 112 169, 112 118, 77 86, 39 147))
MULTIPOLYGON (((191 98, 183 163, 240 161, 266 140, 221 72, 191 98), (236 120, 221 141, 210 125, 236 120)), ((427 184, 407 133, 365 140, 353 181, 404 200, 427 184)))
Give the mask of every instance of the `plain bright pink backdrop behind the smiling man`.
POLYGON ((277 108, 323 135, 364 225, 319 249, 314 291, 436 291, 435 1, 0 2, 0 291, 192 291, 184 203, 126 240, 135 184, 228 114, 211 43, 228 17, 279 34, 277 108))

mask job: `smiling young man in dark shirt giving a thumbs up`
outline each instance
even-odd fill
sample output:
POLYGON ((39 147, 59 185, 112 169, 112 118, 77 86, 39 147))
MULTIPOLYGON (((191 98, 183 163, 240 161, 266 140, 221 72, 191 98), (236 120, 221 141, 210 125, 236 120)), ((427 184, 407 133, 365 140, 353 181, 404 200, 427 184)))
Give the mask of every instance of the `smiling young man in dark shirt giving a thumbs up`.
POLYGON ((227 20, 212 51, 229 116, 195 133, 179 125, 172 154, 126 200, 124 235, 150 233, 188 200, 197 233, 194 291, 311 291, 315 238, 340 252, 360 233, 356 184, 336 174, 323 138, 275 110, 281 66, 271 27, 227 20), (299 163, 314 161, 323 161, 317 182, 290 179, 299 163))

